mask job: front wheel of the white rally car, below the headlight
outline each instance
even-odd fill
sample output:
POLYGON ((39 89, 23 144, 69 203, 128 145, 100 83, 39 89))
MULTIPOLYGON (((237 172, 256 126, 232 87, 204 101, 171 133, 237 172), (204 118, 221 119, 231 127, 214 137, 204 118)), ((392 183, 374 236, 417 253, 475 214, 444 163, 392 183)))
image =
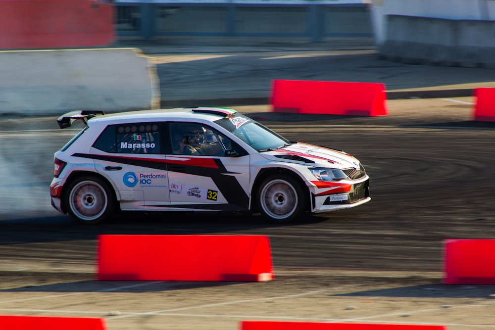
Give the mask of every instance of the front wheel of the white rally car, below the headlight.
POLYGON ((261 215, 277 223, 302 218, 306 211, 306 189, 292 177, 277 174, 263 180, 256 192, 256 207, 261 215))

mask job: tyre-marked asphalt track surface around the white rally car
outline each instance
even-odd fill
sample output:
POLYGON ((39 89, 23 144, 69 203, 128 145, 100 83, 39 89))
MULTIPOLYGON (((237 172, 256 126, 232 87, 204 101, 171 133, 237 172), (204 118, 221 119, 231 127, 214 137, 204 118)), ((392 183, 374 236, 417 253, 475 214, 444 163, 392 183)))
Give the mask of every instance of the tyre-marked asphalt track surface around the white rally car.
POLYGON ((108 330, 234 330, 242 320, 495 329, 495 285, 442 284, 445 239, 495 233, 495 124, 472 121, 471 101, 389 101, 383 117, 236 107, 291 140, 354 154, 372 178, 370 203, 285 226, 180 213, 78 226, 44 204, 66 133, 54 118, 0 120, 3 168, 23 172, 1 177, 0 314, 104 318, 108 330), (32 203, 20 204, 27 193, 32 203), (96 281, 101 234, 266 235, 275 280, 96 281))

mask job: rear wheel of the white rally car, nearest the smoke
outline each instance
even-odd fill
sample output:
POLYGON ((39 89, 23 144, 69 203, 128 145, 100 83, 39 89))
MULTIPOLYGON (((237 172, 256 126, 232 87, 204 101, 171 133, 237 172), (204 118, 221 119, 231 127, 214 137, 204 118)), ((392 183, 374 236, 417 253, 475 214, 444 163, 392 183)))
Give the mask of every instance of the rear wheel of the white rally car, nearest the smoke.
POLYGON ((95 176, 77 178, 64 195, 65 209, 78 223, 96 225, 114 213, 115 199, 106 182, 95 176))

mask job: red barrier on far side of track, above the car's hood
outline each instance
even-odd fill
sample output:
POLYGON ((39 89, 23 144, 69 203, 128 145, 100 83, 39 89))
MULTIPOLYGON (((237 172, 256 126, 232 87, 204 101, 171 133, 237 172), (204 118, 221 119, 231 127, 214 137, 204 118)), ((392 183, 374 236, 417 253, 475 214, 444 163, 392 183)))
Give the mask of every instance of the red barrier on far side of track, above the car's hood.
POLYGON ((307 80, 272 81, 273 112, 383 116, 385 85, 307 80))

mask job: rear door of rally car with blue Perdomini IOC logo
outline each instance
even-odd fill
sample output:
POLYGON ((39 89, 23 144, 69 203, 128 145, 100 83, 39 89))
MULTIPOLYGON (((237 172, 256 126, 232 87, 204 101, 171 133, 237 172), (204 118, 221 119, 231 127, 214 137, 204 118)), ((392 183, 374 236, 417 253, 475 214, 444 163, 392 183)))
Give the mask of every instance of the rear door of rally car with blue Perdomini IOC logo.
POLYGON ((120 196, 121 208, 167 209, 170 204, 161 123, 108 126, 91 149, 97 171, 120 196))

